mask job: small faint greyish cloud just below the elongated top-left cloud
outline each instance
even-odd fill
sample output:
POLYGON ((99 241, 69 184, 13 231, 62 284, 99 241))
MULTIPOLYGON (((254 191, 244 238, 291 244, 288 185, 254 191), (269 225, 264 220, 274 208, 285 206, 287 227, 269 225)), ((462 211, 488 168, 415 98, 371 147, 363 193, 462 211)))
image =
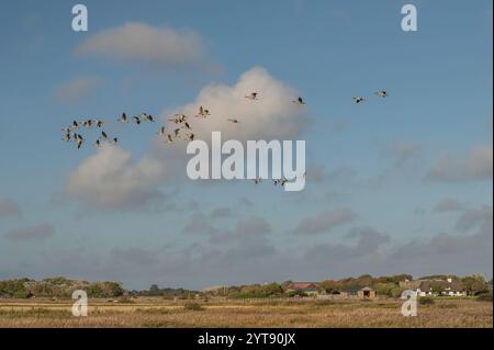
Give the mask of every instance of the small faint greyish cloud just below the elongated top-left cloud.
POLYGON ((53 93, 55 102, 75 102, 90 95, 104 80, 96 76, 79 77, 58 87, 53 93))

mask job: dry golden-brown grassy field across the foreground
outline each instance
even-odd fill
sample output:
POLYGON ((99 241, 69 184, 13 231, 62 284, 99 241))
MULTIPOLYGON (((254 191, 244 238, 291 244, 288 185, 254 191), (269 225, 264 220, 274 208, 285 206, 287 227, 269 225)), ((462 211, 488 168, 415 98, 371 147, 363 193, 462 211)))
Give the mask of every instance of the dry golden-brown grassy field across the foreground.
POLYGON ((0 300, 0 327, 492 327, 493 305, 436 300, 401 315, 402 301, 90 300, 88 317, 71 315, 71 300, 0 300), (194 305, 192 305, 194 306, 194 305), (198 305, 195 305, 198 306, 198 305), (192 308, 192 309, 190 309, 192 308))

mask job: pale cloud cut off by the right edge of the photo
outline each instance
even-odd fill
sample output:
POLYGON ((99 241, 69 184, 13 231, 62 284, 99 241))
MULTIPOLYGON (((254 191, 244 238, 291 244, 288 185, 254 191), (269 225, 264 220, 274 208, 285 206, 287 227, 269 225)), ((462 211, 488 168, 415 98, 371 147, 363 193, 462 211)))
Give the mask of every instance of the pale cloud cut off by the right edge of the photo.
POLYGON ((427 174, 427 180, 475 181, 492 180, 493 149, 491 145, 473 148, 465 157, 444 157, 427 174))

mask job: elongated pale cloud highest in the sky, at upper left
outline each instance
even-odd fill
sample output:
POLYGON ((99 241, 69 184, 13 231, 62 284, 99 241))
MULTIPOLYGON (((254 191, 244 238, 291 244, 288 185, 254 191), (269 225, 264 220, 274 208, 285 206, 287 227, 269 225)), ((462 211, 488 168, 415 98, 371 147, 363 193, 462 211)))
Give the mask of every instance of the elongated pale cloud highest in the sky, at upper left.
POLYGON ((193 32, 131 22, 90 36, 76 48, 75 54, 183 66, 202 59, 203 45, 193 32))

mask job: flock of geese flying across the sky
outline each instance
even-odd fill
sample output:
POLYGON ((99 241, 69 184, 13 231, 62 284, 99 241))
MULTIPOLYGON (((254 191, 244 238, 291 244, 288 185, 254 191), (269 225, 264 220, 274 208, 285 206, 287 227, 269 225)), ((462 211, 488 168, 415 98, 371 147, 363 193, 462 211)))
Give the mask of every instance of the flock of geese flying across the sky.
MULTIPOLYGON (((385 90, 380 90, 375 92, 375 94, 380 98, 388 98, 388 92, 385 90)), ((258 92, 250 92, 249 94, 245 95, 248 100, 259 100, 259 93, 258 92)), ((362 103, 366 101, 366 98, 363 97, 353 97, 352 98, 356 103, 362 103)), ((297 105, 305 105, 305 101, 299 97, 297 99, 292 101, 294 104, 297 105)), ((194 115, 195 117, 200 118, 207 118, 211 116, 211 113, 207 109, 203 108, 202 105, 199 108, 198 114, 194 115)), ((125 112, 122 113, 122 115, 116 120, 120 123, 126 124, 128 122, 133 122, 136 125, 141 125, 141 123, 154 123, 155 117, 151 114, 148 114, 146 112, 142 112, 138 115, 134 115, 132 118, 127 117, 127 114, 125 112)), ((160 126, 158 128, 158 135, 164 139, 165 144, 172 144, 177 139, 182 140, 193 140, 195 138, 195 135, 192 133, 192 127, 190 125, 189 116, 182 113, 173 114, 168 118, 168 121, 176 124, 176 127, 171 129, 170 132, 167 132, 165 126, 160 126)), ((227 120, 231 123, 238 124, 240 123, 239 120, 236 118, 228 118, 227 120)), ((93 143, 93 146, 99 148, 103 143, 110 143, 110 144, 117 144, 119 138, 117 137, 110 137, 102 128, 104 125, 104 121, 101 120, 86 120, 83 122, 74 121, 70 126, 64 127, 64 137, 63 140, 69 143, 74 142, 76 147, 79 149, 82 147, 82 145, 86 142, 85 136, 81 135, 80 129, 86 128, 98 128, 99 129, 99 137, 93 143)), ((304 173, 305 177, 305 173, 304 173)), ((254 180, 256 184, 260 183, 262 181, 261 178, 257 178, 254 180)), ((274 185, 281 185, 284 187, 284 184, 289 181, 285 178, 282 179, 272 179, 274 185)))

